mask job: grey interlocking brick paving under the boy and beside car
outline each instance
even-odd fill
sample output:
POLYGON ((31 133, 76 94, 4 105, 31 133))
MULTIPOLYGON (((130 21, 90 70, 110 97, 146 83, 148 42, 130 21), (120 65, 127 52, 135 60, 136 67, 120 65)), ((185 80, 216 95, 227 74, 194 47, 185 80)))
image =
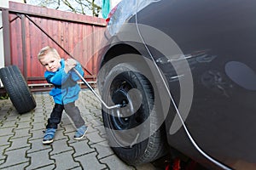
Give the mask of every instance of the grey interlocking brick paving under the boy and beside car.
POLYGON ((43 130, 54 106, 48 92, 33 93, 35 110, 18 114, 9 99, 0 100, 0 169, 156 169, 148 163, 132 167, 119 160, 108 147, 101 105, 87 89, 77 105, 89 125, 86 137, 73 139, 75 128, 63 113, 53 144, 42 144, 43 130))

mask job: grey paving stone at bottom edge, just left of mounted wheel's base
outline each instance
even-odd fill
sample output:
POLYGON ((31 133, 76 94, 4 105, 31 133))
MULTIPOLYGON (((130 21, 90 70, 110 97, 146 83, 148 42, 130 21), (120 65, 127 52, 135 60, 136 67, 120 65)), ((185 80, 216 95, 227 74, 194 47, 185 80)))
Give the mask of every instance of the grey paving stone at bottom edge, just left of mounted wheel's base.
POLYGON ((105 157, 100 160, 102 163, 106 163, 111 170, 125 169, 125 170, 134 170, 135 167, 126 165, 123 161, 115 155, 105 157))

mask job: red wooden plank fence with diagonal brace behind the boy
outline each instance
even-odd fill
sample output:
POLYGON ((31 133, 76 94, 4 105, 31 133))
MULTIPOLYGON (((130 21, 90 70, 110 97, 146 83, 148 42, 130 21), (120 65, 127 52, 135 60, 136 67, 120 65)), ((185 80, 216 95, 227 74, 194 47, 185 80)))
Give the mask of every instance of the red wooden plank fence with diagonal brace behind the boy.
POLYGON ((3 28, 9 28, 9 32, 3 31, 7 40, 5 65, 18 65, 28 84, 45 82, 44 67, 37 54, 47 45, 56 48, 65 59, 79 60, 85 77, 95 80, 97 49, 106 28, 105 20, 13 2, 3 10, 4 16, 9 17, 9 26, 3 18, 3 28))

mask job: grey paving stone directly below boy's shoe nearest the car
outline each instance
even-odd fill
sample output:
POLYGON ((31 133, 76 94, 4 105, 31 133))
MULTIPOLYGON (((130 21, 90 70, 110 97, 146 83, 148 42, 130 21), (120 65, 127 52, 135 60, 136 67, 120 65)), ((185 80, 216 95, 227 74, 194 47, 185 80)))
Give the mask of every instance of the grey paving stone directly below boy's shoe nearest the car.
POLYGON ((84 154, 88 154, 90 152, 96 151, 93 148, 90 148, 88 143, 88 139, 86 140, 79 140, 74 142, 73 144, 70 144, 73 146, 73 149, 75 150, 75 153, 73 154, 74 157, 82 156, 84 154))

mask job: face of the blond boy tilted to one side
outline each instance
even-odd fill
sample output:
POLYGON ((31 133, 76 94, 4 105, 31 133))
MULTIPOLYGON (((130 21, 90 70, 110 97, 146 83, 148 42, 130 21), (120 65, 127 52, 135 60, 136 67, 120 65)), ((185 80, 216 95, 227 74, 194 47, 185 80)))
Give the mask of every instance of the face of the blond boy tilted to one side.
POLYGON ((52 54, 44 55, 44 58, 40 59, 42 65, 45 66, 47 71, 55 72, 61 68, 61 59, 57 59, 52 54))

